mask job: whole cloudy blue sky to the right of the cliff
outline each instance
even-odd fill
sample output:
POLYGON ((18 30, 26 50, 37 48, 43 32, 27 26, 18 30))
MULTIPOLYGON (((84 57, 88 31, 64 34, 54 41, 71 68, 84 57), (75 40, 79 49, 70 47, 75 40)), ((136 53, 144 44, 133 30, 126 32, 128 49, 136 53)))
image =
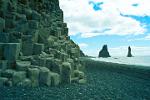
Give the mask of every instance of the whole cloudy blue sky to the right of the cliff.
POLYGON ((89 56, 104 44, 111 56, 150 55, 149 0, 59 0, 69 35, 89 56))

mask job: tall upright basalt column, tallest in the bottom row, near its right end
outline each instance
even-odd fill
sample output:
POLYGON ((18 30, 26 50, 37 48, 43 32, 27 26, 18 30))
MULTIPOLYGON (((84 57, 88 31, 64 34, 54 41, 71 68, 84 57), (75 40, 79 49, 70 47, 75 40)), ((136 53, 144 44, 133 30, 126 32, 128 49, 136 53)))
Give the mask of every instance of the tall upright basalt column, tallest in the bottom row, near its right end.
POLYGON ((71 83, 71 64, 64 62, 61 69, 62 83, 71 83))

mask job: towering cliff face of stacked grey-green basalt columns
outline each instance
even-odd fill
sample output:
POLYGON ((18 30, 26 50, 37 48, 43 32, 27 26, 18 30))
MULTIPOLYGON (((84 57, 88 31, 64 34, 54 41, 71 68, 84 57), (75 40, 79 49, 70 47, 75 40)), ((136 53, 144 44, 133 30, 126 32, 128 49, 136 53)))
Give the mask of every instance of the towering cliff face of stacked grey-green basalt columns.
POLYGON ((84 80, 58 0, 0 0, 0 86, 84 80))

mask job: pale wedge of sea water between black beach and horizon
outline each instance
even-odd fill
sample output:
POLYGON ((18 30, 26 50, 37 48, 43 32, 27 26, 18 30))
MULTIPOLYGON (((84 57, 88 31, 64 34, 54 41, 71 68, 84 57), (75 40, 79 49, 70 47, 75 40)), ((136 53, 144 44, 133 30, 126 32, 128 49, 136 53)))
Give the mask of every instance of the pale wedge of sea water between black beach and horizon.
POLYGON ((108 58, 91 58, 96 61, 112 62, 118 64, 141 65, 150 67, 150 56, 135 57, 108 57, 108 58))

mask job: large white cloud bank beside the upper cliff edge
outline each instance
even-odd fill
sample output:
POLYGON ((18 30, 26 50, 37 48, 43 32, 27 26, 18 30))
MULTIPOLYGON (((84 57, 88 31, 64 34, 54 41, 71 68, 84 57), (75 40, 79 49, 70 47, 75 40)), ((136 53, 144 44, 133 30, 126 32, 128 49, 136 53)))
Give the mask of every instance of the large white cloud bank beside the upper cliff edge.
POLYGON ((139 21, 121 16, 120 12, 125 15, 150 16, 149 0, 93 1, 104 2, 101 11, 94 11, 88 0, 60 0, 70 35, 81 32, 81 37, 87 38, 97 35, 139 35, 146 32, 145 26, 139 21), (139 6, 133 7, 135 3, 139 6))

